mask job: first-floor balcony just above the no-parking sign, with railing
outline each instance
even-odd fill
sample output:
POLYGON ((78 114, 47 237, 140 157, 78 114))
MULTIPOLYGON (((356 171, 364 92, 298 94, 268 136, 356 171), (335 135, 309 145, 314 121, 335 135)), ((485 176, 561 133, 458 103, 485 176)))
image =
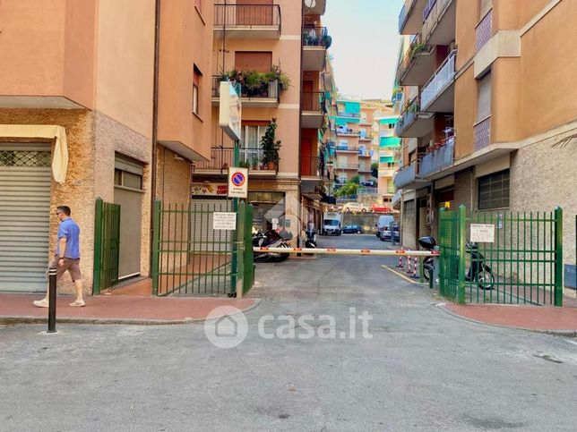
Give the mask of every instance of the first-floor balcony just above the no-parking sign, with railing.
MULTIPOLYGON (((234 148, 211 148, 211 160, 194 163, 194 175, 211 176, 227 175, 228 167, 234 165, 235 149, 234 148)), ((277 167, 270 169, 268 166, 261 164, 263 157, 262 148, 241 148, 240 165, 249 168, 251 175, 275 175, 277 167)))

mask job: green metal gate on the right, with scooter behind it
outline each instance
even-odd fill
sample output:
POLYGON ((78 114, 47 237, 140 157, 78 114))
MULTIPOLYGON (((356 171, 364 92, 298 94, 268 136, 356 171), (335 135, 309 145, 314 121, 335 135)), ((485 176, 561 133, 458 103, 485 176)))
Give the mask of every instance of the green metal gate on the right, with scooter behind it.
POLYGON ((449 300, 563 305, 561 208, 553 212, 468 211, 464 206, 441 210, 439 247, 440 292, 449 300), (471 224, 488 225, 493 241, 469 244, 471 224))

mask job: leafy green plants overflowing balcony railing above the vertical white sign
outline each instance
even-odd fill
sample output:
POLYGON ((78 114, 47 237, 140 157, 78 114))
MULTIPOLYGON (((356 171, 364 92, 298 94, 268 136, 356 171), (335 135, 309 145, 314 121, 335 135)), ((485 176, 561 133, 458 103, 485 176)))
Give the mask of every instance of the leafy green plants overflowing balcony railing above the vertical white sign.
POLYGON ((273 65, 271 72, 237 71, 222 72, 220 81, 230 80, 241 86, 242 97, 267 97, 269 96, 270 83, 278 80, 280 91, 290 87, 290 79, 285 72, 280 70, 279 65, 273 65))

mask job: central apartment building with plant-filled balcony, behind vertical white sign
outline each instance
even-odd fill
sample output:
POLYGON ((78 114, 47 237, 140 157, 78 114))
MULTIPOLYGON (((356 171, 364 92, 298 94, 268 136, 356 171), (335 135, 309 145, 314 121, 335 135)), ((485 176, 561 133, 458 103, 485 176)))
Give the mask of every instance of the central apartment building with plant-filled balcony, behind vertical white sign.
MULTIPOLYGON (((249 169, 254 225, 283 225, 297 237, 303 184, 321 179, 318 130, 323 125, 323 71, 328 34, 320 26, 325 2, 307 8, 292 0, 215 4, 212 46, 211 156, 196 163, 193 199, 226 197, 234 142, 219 127, 220 81, 240 84, 240 165, 249 169), (309 25, 310 24, 310 25, 309 25), (301 63, 302 57, 302 63, 301 63), (264 160, 261 139, 276 121, 280 158, 264 160), (268 161, 270 162, 270 161, 268 161)), ((313 191, 311 192, 314 194, 313 191)))

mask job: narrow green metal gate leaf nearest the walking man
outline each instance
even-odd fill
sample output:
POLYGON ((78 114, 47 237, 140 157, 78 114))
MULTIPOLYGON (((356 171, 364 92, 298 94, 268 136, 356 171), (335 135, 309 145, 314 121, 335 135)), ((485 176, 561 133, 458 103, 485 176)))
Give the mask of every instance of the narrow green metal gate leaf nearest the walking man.
POLYGON ((120 206, 99 198, 94 214, 93 293, 98 295, 118 283, 120 206))

